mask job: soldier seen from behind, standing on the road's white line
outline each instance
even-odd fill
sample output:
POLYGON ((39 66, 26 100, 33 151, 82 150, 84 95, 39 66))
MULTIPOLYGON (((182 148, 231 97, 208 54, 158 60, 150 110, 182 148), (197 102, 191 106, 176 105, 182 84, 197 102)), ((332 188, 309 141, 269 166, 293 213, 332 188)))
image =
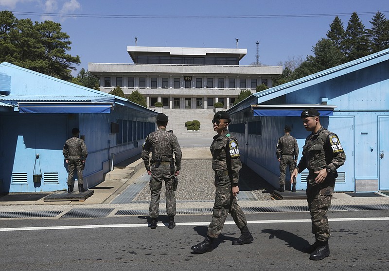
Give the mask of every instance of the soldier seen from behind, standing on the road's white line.
POLYGON ((176 194, 174 193, 175 176, 179 175, 181 169, 181 148, 178 144, 176 135, 173 131, 166 131, 168 117, 160 113, 157 115, 158 130, 147 135, 143 143, 142 159, 147 173, 151 175, 150 190, 151 200, 149 207, 149 219, 151 229, 157 227, 157 219, 159 215, 159 196, 162 187, 162 181, 165 181, 166 187, 166 212, 169 216, 169 229, 173 229, 176 223, 174 216, 176 215, 176 194), (151 154, 151 166, 149 163, 151 154), (174 157, 176 159, 176 167, 174 165, 174 157))

